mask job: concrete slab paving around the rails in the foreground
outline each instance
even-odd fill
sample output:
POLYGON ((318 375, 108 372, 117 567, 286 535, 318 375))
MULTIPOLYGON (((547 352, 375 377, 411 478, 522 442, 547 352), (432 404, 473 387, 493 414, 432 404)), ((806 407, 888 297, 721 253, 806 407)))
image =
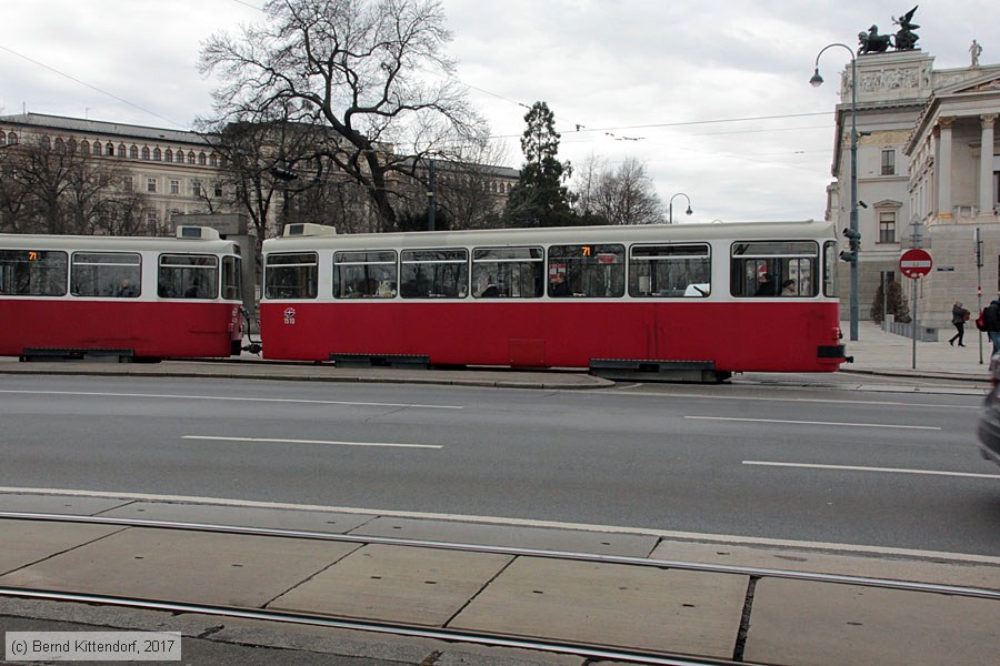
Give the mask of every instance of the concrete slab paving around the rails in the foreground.
MULTIPOLYGON (((114 496, 7 494, 0 495, 0 509, 559 548, 632 561, 588 562, 540 553, 0 518, 4 535, 0 586, 310 613, 727 663, 968 666, 992 663, 1000 645, 996 622, 1000 597, 692 571, 677 564, 753 566, 1000 591, 1000 557, 949 558, 941 554, 928 558, 900 552, 887 559, 808 547, 684 541, 656 533, 493 526, 332 513, 321 507, 226 506, 221 501, 178 504, 114 496), (642 566, 642 559, 658 564, 642 566)), ((394 642, 397 654, 402 650, 407 655, 391 662, 396 664, 591 663, 544 653, 519 653, 514 659, 496 648, 477 653, 468 644, 429 644, 427 638, 423 643, 412 638, 400 642, 383 634, 248 624, 191 610, 176 616, 138 613, 119 612, 109 620, 107 610, 101 614, 73 603, 0 598, 0 617, 32 618, 42 628, 70 617, 80 624, 103 625, 104 630, 181 630, 190 648, 210 638, 258 648, 297 645, 308 652, 372 658, 382 653, 387 642, 394 642)))

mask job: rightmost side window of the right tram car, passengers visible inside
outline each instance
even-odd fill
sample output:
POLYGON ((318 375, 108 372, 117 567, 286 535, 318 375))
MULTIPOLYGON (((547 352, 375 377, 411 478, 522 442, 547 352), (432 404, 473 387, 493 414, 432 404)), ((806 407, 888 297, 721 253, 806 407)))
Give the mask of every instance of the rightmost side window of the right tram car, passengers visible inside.
POLYGON ((813 241, 733 243, 733 296, 812 297, 819 289, 819 245, 813 241))

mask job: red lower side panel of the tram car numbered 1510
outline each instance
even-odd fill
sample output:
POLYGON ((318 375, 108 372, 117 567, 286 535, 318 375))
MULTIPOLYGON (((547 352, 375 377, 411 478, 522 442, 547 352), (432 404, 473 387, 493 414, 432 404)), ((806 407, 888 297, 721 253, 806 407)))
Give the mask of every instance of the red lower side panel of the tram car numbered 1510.
MULTIPOLYGON (((710 362, 729 372, 832 372, 836 302, 270 302, 267 359, 426 356, 440 365, 588 367, 710 362)), ((839 350, 839 351, 838 351, 839 350)))

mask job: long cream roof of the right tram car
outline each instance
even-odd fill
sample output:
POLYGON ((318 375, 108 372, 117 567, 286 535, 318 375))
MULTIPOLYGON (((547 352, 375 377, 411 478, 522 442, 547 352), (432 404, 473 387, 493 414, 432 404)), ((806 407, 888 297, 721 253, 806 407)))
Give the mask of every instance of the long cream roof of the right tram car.
POLYGON ((468 231, 412 231, 293 235, 268 239, 264 251, 297 248, 428 248, 464 245, 566 244, 601 242, 694 242, 714 240, 833 239, 836 228, 826 221, 728 222, 716 224, 643 224, 614 226, 547 226, 538 229, 477 229, 468 231))

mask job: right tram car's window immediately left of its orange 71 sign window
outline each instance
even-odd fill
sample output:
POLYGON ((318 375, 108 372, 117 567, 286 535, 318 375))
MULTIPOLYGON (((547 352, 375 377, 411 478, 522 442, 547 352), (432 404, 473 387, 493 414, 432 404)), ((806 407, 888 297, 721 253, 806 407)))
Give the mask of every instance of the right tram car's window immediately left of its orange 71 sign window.
POLYGON ((538 299, 544 293, 541 248, 472 250, 472 295, 477 299, 538 299))

